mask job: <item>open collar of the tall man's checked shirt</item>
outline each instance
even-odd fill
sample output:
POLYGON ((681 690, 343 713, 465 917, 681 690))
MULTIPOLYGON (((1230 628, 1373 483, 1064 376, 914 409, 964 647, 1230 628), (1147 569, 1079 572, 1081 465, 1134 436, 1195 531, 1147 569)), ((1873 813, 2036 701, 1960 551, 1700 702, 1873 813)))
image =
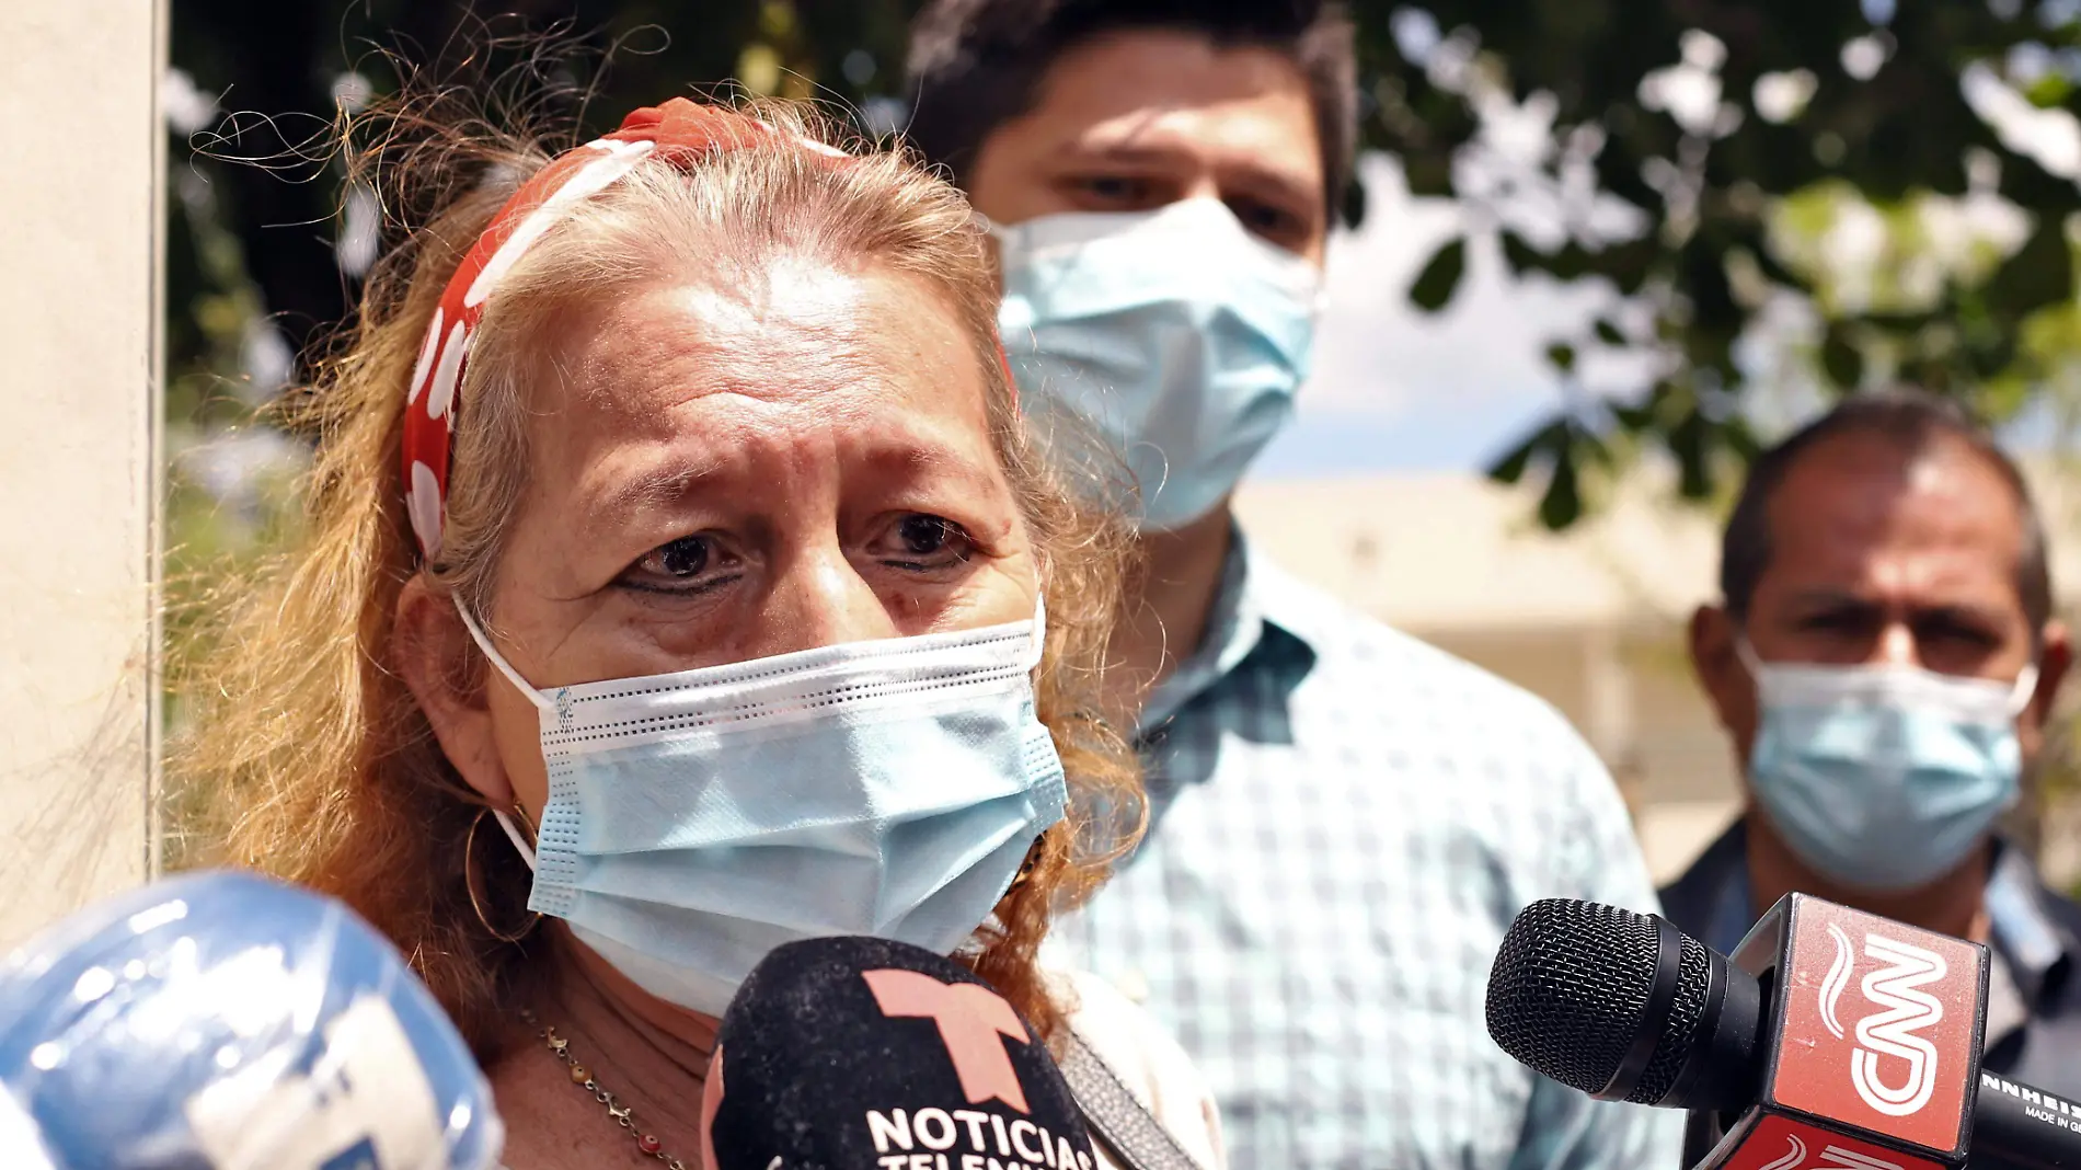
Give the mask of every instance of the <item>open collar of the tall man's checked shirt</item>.
POLYGON ((1207 610, 1207 633, 1176 670, 1151 691, 1136 724, 1140 735, 1170 722, 1188 702, 1259 660, 1313 662, 1317 637, 1292 583, 1251 550, 1242 529, 1228 527, 1228 558, 1207 610))

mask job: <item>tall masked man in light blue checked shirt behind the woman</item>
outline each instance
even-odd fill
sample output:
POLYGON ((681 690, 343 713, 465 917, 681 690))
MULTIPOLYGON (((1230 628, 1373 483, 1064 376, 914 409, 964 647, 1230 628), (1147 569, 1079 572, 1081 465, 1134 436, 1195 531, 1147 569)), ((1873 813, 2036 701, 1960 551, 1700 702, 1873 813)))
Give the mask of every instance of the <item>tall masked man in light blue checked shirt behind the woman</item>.
POLYGON ((1542 1080, 1484 1028, 1521 906, 1656 906, 1604 766, 1230 514, 1309 375, 1357 142, 1342 8, 934 0, 909 65, 909 137, 997 241, 1022 406, 1147 558, 1109 718, 1151 835, 1063 958, 1170 1024, 1238 1168, 1673 1166, 1679 1116, 1542 1080))

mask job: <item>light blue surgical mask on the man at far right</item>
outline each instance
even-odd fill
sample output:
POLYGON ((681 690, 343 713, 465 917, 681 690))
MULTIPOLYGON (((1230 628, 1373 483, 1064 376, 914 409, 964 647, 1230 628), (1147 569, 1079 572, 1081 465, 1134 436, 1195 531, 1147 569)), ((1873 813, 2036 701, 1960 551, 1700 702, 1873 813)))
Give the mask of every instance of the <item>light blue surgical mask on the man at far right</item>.
POLYGON ((1763 720, 1748 781, 1785 845, 1862 891, 1929 885, 2016 804, 2016 716, 2037 668, 2014 683, 1915 666, 1761 662, 1763 720))

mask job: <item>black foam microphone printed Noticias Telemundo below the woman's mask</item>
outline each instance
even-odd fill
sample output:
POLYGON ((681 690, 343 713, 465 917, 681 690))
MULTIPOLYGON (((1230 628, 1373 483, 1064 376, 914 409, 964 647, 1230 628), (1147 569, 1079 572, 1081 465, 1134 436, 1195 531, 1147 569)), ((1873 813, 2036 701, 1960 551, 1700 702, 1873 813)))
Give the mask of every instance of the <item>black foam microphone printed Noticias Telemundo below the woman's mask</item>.
POLYGON ((1097 1170, 1032 1026, 974 972, 889 939, 774 949, 722 1016, 708 1170, 1097 1170))

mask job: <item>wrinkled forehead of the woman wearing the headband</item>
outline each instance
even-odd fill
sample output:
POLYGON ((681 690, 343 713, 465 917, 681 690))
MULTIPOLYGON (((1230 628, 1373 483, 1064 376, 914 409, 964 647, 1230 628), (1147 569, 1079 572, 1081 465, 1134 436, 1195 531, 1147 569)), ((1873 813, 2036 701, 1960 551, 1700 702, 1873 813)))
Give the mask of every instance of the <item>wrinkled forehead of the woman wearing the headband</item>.
POLYGON ((543 421, 551 462, 583 468, 585 510, 610 516, 672 508, 751 466, 832 458, 997 495, 980 402, 920 371, 955 341, 928 310, 907 312, 916 296, 903 277, 824 264, 635 291, 564 350, 576 412, 543 421))

